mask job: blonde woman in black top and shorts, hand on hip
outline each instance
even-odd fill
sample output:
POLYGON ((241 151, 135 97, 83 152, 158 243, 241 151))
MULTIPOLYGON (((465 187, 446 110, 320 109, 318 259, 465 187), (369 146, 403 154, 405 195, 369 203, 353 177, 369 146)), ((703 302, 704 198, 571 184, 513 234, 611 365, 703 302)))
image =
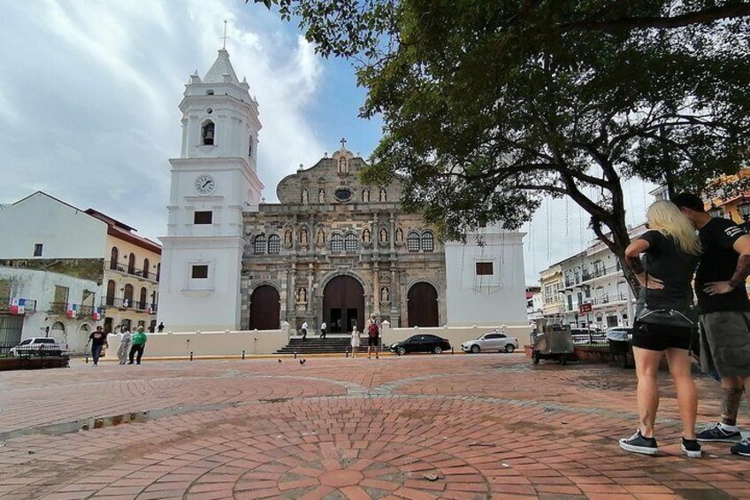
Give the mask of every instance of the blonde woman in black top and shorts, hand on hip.
POLYGON ((682 450, 689 458, 699 458, 700 444, 695 440, 694 430, 698 397, 689 354, 693 328, 689 324, 675 326, 647 322, 644 308, 648 311, 675 311, 684 314, 685 318, 692 318, 692 281, 700 255, 700 240, 690 220, 671 202, 652 204, 646 217, 649 230, 625 249, 625 262, 641 286, 632 336, 640 425, 635 435, 620 440, 620 447, 633 453, 656 454, 654 421, 659 407, 656 374, 662 356, 666 355, 677 388, 677 405, 683 423, 682 450), (640 254, 646 254, 643 264, 640 254))

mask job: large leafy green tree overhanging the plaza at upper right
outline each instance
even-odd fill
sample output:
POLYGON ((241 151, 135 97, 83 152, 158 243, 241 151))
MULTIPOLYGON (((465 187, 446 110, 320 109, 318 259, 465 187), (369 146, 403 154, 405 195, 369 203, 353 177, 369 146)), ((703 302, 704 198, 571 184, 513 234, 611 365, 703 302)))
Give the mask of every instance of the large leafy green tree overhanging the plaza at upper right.
POLYGON ((402 176, 444 238, 570 196, 622 261, 623 180, 701 189, 750 151, 747 2, 256 2, 356 61, 385 122, 365 180, 402 176))

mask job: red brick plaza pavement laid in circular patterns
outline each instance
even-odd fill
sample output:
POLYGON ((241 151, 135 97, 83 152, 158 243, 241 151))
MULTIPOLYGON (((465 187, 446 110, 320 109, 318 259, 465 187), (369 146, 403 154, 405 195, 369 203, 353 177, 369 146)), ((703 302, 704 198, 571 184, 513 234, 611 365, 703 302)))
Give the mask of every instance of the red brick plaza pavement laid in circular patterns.
MULTIPOLYGON (((634 373, 601 365, 444 355, 5 372, 0 496, 750 498, 750 461, 728 446, 680 454, 663 387, 649 458, 616 443, 636 426, 634 373)), ((712 421, 716 383, 699 388, 699 419, 712 421)))

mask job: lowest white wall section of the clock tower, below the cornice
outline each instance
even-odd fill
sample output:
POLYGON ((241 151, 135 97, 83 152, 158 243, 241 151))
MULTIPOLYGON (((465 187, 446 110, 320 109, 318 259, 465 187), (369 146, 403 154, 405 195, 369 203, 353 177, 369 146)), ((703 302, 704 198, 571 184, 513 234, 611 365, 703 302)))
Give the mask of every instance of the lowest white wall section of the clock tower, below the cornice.
POLYGON ((157 324, 170 331, 240 328, 241 238, 163 237, 157 324), (209 265, 207 280, 192 265, 209 265))

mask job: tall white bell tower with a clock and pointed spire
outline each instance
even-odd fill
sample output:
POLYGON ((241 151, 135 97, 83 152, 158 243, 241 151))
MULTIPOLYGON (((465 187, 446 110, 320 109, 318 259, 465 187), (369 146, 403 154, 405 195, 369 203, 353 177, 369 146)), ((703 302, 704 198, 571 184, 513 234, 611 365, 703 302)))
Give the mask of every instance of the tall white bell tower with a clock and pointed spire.
POLYGON ((225 49, 180 103, 182 147, 172 165, 157 320, 165 329, 240 329, 242 212, 257 211, 258 104, 225 49))

